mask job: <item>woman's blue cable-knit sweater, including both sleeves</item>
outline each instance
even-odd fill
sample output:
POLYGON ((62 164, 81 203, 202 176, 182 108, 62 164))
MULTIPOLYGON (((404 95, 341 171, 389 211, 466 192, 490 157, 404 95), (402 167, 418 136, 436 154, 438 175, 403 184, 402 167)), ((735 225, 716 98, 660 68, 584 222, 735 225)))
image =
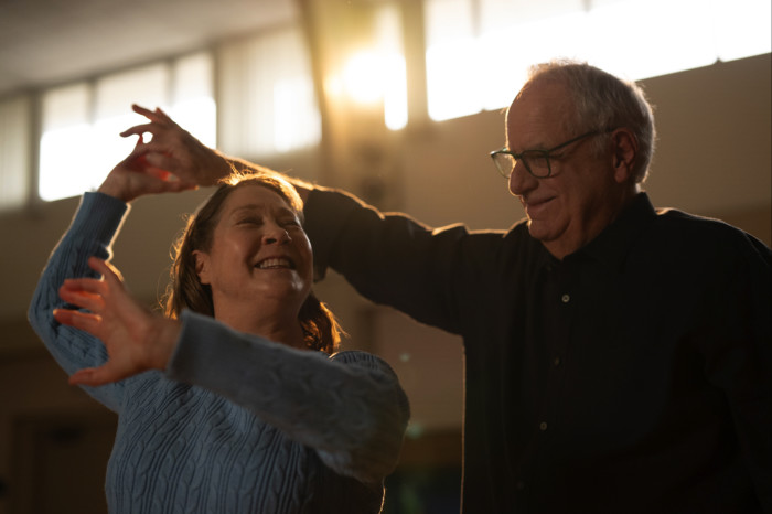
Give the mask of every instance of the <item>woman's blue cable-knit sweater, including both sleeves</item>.
MULTIPOLYGON (((104 363, 101 342, 60 325, 57 289, 111 256, 128 207, 84 195, 35 291, 32 326, 62 367, 104 363)), ((111 513, 377 513, 409 417, 383 360, 332 357, 238 333, 191 312, 163 372, 86 390, 118 413, 111 513)))

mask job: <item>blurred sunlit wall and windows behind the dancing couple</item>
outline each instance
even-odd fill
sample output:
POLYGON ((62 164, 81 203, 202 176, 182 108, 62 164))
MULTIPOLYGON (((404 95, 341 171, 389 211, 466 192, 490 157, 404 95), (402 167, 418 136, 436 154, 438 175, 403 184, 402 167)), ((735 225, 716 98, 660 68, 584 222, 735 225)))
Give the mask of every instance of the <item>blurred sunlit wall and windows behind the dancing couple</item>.
MULTIPOLYGON (((3 0, 0 2, 0 514, 105 512, 115 415, 66 385, 26 323, 49 253, 161 106, 210 146, 430 225, 523 217, 487 152, 530 64, 639 81, 660 135, 656 206, 770 245, 769 0, 3 0)), ((115 247, 158 304, 183 215, 211 191, 135 202, 115 247)), ((458 338, 356 296, 317 292, 399 374, 412 419, 385 512, 458 512, 458 338)), ((495 301, 495 299, 491 299, 495 301)))

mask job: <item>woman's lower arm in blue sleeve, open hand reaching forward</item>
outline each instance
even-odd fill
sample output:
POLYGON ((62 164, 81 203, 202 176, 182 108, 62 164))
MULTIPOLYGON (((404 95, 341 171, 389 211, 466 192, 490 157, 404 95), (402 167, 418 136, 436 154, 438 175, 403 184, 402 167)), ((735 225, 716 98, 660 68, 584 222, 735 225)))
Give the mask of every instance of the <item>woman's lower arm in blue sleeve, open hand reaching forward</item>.
POLYGON ((168 320, 141 308, 109 265, 95 258, 90 265, 104 280, 68 280, 63 291, 88 312, 62 309, 56 319, 105 341, 109 361, 71 382, 97 386, 165 370, 251 410, 340 474, 377 483, 394 470, 409 407, 384 361, 296 350, 189 311, 168 320))

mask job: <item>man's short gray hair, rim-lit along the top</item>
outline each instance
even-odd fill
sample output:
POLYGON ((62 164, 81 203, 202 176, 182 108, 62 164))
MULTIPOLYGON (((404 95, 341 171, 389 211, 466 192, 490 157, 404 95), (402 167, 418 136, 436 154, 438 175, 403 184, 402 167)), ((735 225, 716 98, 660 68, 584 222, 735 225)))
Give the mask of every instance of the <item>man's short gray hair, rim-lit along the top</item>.
MULTIPOLYGON (((652 106, 637 84, 622 81, 587 63, 568 60, 532 66, 523 90, 542 81, 562 84, 570 92, 576 113, 566 118, 565 128, 569 132, 621 127, 630 129, 639 143, 633 178, 636 183, 646 179, 654 156, 656 131, 652 106)), ((601 151, 607 141, 598 138, 594 142, 597 150, 601 151)))

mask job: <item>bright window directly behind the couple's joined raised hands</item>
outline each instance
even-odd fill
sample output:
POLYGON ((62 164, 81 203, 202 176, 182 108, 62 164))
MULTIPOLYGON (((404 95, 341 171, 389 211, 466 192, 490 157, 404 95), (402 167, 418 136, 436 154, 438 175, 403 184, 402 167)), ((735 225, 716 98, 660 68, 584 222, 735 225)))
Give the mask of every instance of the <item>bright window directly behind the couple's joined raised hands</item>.
POLYGON ((132 103, 165 109, 214 146, 211 82, 211 57, 202 53, 46 90, 41 98, 40 196, 75 196, 101 183, 136 143, 136 138, 118 135, 144 122, 131 111, 132 103))

